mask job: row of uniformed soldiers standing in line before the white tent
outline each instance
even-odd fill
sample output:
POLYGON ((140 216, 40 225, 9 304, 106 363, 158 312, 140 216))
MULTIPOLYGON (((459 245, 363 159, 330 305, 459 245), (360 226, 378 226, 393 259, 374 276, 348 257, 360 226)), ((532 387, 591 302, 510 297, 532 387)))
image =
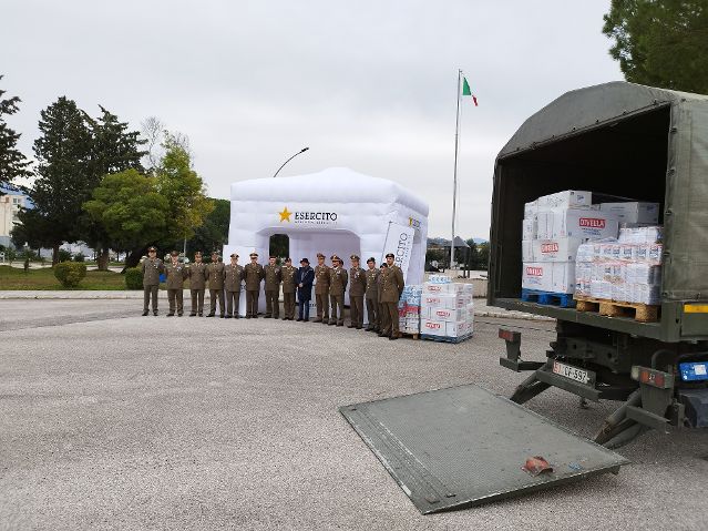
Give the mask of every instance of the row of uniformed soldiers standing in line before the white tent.
POLYGON ((258 298, 260 283, 265 280, 266 314, 265 318, 279 318, 279 295, 283 287, 283 320, 309 321, 312 285, 317 317, 314 323, 332 326, 345 325, 345 293, 349 286, 350 324, 349 328, 363 328, 363 306, 366 300, 369 324, 367 331, 376 331, 379 336, 398 339, 399 315, 398 302, 403 292, 403 273, 394 264, 392 253, 386 255, 386 263, 379 268, 376 259, 367 261, 367 269, 360 267, 359 256, 351 255, 351 268, 342 267, 342 259, 332 255, 331 267, 326 265, 325 255, 317 254, 317 265, 310 267, 309 259, 302 258, 300 267, 294 267, 287 258, 284 266, 276 264, 270 256, 268 264, 258 263, 258 254, 250 254, 250 262, 245 266, 238 264, 238 255, 230 255, 230 263, 219 262, 218 253, 212 253, 212 262, 205 264, 202 253, 196 252, 194 262, 188 266, 179 262, 179 253, 173 251, 170 262, 164 264, 156 257, 157 249, 148 248, 148 256, 142 263, 144 305, 143 315, 150 313, 152 298, 153 314, 157 315, 157 289, 160 275, 165 274, 170 313, 167 317, 182 317, 183 286, 189 279, 192 293, 191 317, 204 315, 204 295, 209 290, 209 313, 206 317, 215 317, 217 303, 219 317, 240 318, 238 312, 242 283, 246 289, 246 319, 258 318, 258 298), (317 280, 317 282, 315 282, 317 280), (297 299, 296 299, 297 294, 297 299), (224 303, 226 298, 226 304, 224 303), (298 318, 295 319, 295 307, 298 306, 298 318), (330 313, 331 310, 331 313, 330 313))

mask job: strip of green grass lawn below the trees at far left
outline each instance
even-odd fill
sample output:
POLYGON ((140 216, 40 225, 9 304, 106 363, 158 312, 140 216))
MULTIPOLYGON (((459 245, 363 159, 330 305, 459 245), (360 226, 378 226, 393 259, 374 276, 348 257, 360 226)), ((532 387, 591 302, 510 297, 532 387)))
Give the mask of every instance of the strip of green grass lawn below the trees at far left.
POLYGON ((75 288, 65 288, 54 277, 54 269, 24 269, 0 266, 0 289, 125 289, 125 276, 114 272, 89 270, 75 288))

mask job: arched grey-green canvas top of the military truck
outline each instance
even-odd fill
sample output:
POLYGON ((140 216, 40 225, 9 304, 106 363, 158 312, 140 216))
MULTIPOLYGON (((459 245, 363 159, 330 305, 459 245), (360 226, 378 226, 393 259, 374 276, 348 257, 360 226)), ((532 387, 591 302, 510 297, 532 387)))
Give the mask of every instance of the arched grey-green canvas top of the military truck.
POLYGON ((576 134, 587 127, 612 123, 628 114, 686 101, 702 101, 708 104, 708 96, 624 81, 566 92, 529 118, 502 149, 497 159, 576 134))

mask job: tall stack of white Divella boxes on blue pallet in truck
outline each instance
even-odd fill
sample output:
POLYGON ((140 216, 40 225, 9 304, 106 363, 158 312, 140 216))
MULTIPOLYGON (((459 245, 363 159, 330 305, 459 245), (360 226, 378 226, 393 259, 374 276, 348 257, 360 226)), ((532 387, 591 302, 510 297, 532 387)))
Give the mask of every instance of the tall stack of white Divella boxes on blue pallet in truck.
POLYGON ((572 294, 575 255, 583 242, 616 237, 618 216, 592 204, 591 192, 567 190, 526 203, 522 236, 522 287, 572 294))

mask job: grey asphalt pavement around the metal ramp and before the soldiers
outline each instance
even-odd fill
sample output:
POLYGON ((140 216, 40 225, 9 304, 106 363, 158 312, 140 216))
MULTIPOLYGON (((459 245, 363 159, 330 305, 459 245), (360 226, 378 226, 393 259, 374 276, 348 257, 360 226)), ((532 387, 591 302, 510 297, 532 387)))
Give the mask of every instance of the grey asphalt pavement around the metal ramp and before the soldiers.
MULTIPOLYGON (((0 529, 706 529, 708 433, 648 432, 605 474, 421 515, 339 415, 463 384, 509 396, 500 324, 460 345, 294 321, 140 316, 136 300, 0 300, 0 529)), ((612 404, 532 410, 591 436, 612 404)))

